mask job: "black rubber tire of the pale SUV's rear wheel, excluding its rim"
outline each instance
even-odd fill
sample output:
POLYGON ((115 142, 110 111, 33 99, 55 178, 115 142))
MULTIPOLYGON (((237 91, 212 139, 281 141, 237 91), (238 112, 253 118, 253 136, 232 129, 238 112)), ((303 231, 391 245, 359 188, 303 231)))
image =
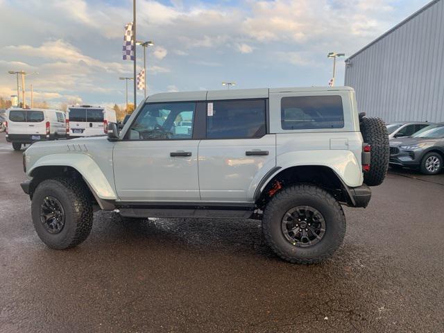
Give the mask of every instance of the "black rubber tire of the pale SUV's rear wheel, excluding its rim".
POLYGON ((341 246, 345 235, 345 216, 341 205, 327 191, 313 185, 294 185, 275 194, 266 205, 262 232, 268 246, 287 262, 316 264, 332 256, 341 246), (300 205, 314 207, 325 219, 325 234, 313 246, 294 246, 282 232, 284 214, 300 205))

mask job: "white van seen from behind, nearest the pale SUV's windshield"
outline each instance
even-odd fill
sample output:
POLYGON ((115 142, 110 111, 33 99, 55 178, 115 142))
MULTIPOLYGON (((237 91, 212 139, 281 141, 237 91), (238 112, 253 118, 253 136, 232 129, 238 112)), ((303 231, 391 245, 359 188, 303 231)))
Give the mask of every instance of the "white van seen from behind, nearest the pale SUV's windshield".
POLYGON ((73 105, 67 112, 68 137, 90 137, 108 133, 108 123, 115 123, 116 112, 112 109, 91 105, 73 105))

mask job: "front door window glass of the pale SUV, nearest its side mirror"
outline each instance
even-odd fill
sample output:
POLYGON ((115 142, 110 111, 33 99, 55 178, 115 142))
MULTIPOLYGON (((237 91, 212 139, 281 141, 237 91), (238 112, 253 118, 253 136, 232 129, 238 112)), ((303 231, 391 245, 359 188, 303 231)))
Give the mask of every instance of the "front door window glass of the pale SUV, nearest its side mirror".
POLYGON ((191 139, 196 103, 146 104, 129 130, 131 140, 191 139))

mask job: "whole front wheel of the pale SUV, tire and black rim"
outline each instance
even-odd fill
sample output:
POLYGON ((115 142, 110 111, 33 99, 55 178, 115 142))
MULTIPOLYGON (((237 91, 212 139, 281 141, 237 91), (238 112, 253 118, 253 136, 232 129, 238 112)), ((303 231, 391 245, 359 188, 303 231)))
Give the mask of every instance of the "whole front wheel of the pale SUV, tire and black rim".
POLYGON ((31 214, 40 239, 57 250, 77 246, 92 229, 89 191, 69 178, 42 181, 33 194, 31 214))

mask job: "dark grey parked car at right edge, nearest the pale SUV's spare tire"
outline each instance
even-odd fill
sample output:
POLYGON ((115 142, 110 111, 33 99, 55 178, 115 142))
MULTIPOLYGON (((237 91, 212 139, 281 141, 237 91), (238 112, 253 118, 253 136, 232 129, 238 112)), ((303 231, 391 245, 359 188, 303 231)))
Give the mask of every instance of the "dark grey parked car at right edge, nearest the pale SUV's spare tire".
POLYGON ((444 123, 423 128, 411 137, 390 141, 390 165, 393 168, 416 168, 426 175, 443 169, 444 123))

